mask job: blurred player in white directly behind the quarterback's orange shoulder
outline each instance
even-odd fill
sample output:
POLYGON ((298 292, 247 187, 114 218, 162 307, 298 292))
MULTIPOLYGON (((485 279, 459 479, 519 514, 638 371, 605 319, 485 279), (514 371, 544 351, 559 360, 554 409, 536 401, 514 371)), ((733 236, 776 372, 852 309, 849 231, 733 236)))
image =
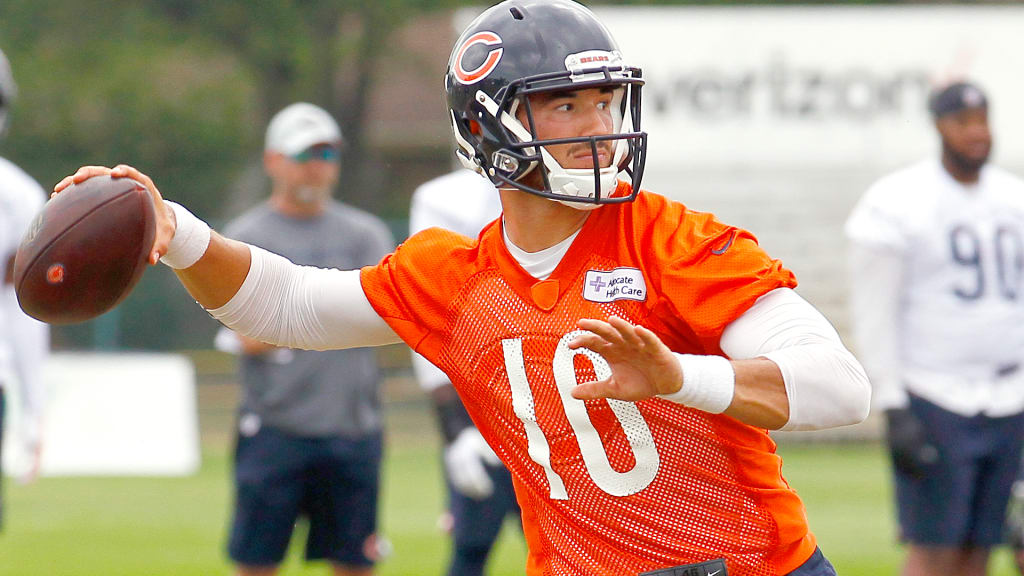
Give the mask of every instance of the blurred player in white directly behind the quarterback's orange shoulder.
MULTIPOLYGON (((424 182, 413 193, 410 236, 438 227, 476 238, 501 216, 502 205, 490 180, 463 168, 424 182)), ((447 576, 479 576, 505 519, 519 518, 512 477, 487 446, 439 368, 413 353, 413 370, 430 395, 444 442, 452 559, 447 576)), ((447 524, 445 522, 445 524, 447 524)))

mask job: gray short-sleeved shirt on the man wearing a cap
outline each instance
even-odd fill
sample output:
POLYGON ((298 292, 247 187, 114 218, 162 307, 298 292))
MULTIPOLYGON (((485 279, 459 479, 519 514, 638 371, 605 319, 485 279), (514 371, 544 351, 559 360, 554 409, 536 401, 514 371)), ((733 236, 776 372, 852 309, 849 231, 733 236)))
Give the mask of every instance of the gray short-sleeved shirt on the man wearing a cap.
MULTIPOLYGON (((225 233, 318 268, 358 269, 394 250, 380 218, 334 200, 312 218, 286 216, 264 202, 228 223, 225 233)), ((373 348, 242 356, 240 378, 243 433, 257 421, 302 437, 358 437, 381 427, 373 348)))

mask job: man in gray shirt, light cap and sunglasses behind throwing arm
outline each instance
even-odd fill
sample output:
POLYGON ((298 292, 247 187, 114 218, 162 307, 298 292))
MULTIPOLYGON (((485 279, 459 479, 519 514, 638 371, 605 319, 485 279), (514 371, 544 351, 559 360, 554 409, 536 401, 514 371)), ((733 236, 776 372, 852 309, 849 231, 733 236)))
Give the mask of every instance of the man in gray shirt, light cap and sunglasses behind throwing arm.
MULTIPOLYGON (((319 268, 359 268, 393 250, 382 220, 332 198, 341 146, 325 110, 298 102, 279 112, 263 155, 270 197, 227 234, 319 268)), ((226 328, 216 345, 240 355, 228 543, 238 574, 274 574, 299 517, 309 525, 306 560, 329 561, 336 576, 372 574, 383 441, 374 352, 279 348, 226 328)))

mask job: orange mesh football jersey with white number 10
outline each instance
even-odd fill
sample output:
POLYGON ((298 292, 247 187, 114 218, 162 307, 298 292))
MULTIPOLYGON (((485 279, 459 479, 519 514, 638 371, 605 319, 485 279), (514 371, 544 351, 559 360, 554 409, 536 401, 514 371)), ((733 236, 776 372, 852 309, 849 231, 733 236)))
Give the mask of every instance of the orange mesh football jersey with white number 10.
POLYGON ((361 283, 395 332, 447 373, 511 470, 530 576, 721 557, 730 574, 774 576, 814 551, 766 430, 662 399, 569 395, 609 371, 567 347, 581 318, 618 316, 675 352, 721 355, 725 326, 796 285, 749 233, 641 193, 594 211, 547 280, 516 263, 499 220, 478 241, 424 231, 364 269, 361 283))

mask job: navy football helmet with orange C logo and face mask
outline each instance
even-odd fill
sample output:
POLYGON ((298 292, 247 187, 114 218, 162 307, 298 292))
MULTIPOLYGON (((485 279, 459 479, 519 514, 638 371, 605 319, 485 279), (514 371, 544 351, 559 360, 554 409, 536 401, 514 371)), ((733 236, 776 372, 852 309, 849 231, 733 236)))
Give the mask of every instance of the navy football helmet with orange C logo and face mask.
POLYGON ((639 68, 628 66, 615 40, 593 12, 570 0, 508 0, 480 14, 463 32, 449 59, 444 87, 462 163, 498 187, 517 188, 577 208, 629 202, 643 175, 647 134, 640 130, 639 68), (615 88, 612 132, 540 140, 534 131, 530 94, 584 88, 615 88), (527 122, 516 113, 525 107, 527 122), (598 142, 610 140, 612 160, 598 163, 598 142), (594 168, 563 168, 545 150, 587 142, 594 168), (543 188, 523 183, 541 170, 543 188), (614 196, 620 174, 633 184, 614 196))

